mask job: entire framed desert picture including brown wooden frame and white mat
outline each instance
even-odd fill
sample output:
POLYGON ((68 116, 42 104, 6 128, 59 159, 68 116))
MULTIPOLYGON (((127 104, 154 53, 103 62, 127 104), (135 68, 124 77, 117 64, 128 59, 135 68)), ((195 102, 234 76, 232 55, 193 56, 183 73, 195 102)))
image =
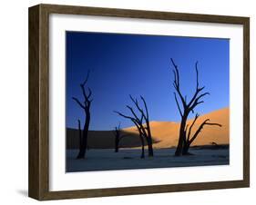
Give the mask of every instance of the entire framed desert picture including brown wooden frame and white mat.
POLYGON ((28 45, 29 197, 250 186, 249 17, 35 5, 28 45))

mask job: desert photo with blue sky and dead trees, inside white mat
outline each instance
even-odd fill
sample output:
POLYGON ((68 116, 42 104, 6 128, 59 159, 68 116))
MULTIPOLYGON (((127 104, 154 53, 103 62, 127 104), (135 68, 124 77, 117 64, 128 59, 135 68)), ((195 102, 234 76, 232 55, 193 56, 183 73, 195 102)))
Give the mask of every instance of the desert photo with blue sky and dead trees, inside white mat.
POLYGON ((66 171, 230 163, 230 40, 66 32, 66 171))

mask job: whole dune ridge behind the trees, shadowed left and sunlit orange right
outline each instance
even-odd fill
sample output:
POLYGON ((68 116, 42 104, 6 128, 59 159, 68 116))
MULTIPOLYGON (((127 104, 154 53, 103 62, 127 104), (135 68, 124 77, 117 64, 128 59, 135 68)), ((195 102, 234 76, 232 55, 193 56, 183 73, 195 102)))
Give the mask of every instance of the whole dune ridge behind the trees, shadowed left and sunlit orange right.
MULTIPOLYGON (((224 108, 214 112, 204 114, 199 117, 193 126, 191 135, 197 131, 201 122, 210 119, 210 122, 220 123, 219 126, 205 125, 193 145, 208 145, 211 142, 218 144, 230 143, 230 109, 224 108)), ((193 119, 189 120, 190 124, 193 119)), ((177 146, 179 137, 179 122, 150 122, 151 132, 155 148, 169 148, 177 146)), ((120 142, 120 147, 138 147, 138 131, 135 127, 129 127, 122 130, 125 137, 120 142)), ((113 131, 89 131, 88 147, 97 149, 114 148, 113 131)), ((78 147, 78 132, 76 129, 67 128, 67 149, 76 149, 78 147)))

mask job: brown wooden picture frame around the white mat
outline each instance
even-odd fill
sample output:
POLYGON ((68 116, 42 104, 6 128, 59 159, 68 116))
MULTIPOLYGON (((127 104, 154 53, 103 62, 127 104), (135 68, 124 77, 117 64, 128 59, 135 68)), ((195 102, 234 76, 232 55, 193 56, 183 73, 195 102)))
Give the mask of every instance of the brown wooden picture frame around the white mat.
POLYGON ((192 15, 70 5, 29 8, 29 183, 36 200, 60 200, 250 186, 250 19, 223 15, 192 15), (243 26, 243 180, 213 181, 89 190, 49 190, 49 15, 96 15, 243 26))

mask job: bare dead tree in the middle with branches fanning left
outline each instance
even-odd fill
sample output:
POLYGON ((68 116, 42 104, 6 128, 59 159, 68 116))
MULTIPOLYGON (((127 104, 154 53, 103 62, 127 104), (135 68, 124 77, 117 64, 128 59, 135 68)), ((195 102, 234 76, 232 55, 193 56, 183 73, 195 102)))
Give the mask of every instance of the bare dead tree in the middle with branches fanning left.
MULTIPOLYGON (((141 143, 144 144, 143 138, 147 141, 148 143, 148 157, 154 156, 154 151, 153 151, 153 145, 152 145, 152 136, 151 136, 151 131, 150 131, 150 124, 149 124, 149 116, 148 116, 148 107, 145 99, 140 96, 141 101, 143 102, 144 105, 144 110, 139 106, 138 100, 134 99, 131 95, 129 95, 130 99, 132 102, 134 102, 138 112, 140 113, 140 117, 138 117, 138 114, 133 110, 132 107, 127 105, 128 110, 131 112, 132 117, 128 115, 124 115, 121 112, 117 112, 120 116, 127 118, 131 120, 136 127, 138 128, 138 133, 139 137, 141 139, 141 143)), ((142 146, 144 147, 144 145, 142 146)))

